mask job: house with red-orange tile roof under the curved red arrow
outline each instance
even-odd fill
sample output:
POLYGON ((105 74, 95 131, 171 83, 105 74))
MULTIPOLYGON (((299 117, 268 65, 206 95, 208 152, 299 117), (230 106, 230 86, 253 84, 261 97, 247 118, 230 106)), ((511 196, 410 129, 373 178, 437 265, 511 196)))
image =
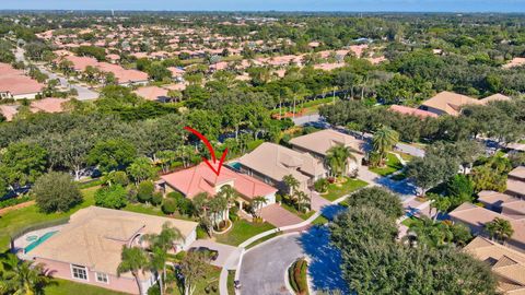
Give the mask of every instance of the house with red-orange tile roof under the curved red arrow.
POLYGON ((242 210, 244 210, 244 203, 250 204, 257 197, 265 197, 267 203, 264 205, 276 202, 276 188, 248 175, 236 173, 228 166, 222 166, 219 176, 206 163, 200 163, 197 166, 167 174, 161 178, 163 182, 160 182, 160 185, 166 192, 176 190, 188 199, 192 199, 201 192, 215 196, 223 186, 229 185, 240 193, 236 202, 242 210))

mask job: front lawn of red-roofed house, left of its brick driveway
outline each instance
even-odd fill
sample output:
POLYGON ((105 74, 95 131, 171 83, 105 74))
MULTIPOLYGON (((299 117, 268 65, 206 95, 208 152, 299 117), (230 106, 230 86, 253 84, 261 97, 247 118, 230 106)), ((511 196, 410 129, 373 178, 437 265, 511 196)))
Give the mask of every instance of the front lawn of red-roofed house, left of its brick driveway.
POLYGON ((275 228, 275 226, 267 222, 250 223, 245 220, 238 220, 233 223, 233 227, 230 229, 230 232, 222 235, 217 235, 217 241, 232 246, 238 246, 246 239, 272 228, 275 228))

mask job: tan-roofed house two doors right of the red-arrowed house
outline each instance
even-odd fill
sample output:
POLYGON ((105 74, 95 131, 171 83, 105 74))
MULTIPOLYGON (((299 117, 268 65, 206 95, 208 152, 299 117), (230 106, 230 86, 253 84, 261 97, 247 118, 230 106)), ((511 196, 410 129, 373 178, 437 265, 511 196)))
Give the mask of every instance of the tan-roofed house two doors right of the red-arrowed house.
POLYGON ((328 165, 326 165, 326 155, 330 148, 338 144, 350 148, 352 154, 355 156, 355 161, 349 160, 347 173, 359 168, 364 157, 364 151, 366 150, 366 143, 364 141, 331 129, 324 129, 294 138, 290 140, 290 144, 292 149, 298 152, 310 153, 314 157, 322 160, 325 163, 326 169, 329 168, 328 165))

